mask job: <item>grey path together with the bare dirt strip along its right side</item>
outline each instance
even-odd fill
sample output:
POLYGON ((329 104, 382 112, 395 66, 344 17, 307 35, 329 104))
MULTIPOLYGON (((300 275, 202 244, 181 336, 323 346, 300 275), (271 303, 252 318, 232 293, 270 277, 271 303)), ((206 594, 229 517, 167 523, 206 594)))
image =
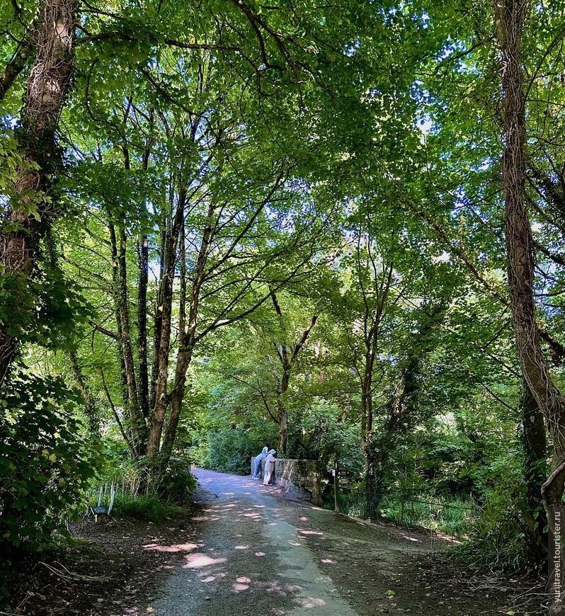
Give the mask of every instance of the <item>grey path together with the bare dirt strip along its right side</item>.
POLYGON ((356 523, 290 501, 249 477, 193 472, 205 490, 205 507, 195 518, 192 542, 146 546, 183 551, 159 598, 147 606, 150 614, 477 616, 511 611, 506 593, 473 592, 461 571, 446 569, 438 554, 442 546, 424 532, 356 523))

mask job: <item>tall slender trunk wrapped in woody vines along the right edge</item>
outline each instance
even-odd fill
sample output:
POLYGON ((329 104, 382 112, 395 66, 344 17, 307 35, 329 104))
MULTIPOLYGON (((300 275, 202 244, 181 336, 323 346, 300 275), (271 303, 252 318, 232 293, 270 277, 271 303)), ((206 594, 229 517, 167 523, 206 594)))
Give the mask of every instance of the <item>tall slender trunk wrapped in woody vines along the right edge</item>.
POLYGON ((564 398, 549 375, 536 323, 534 252, 525 207, 526 121, 523 91, 522 34, 526 0, 504 0, 495 6, 496 33, 502 52, 503 137, 502 180, 505 202, 506 255, 513 327, 523 377, 543 411, 552 436, 552 474, 542 486, 549 527, 554 508, 562 506, 565 486, 564 398))

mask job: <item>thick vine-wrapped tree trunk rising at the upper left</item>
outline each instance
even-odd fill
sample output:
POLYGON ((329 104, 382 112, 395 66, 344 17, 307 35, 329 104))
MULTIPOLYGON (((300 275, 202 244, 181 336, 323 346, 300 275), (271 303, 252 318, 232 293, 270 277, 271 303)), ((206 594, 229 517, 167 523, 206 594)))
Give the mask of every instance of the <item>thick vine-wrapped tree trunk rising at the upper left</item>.
MULTIPOLYGON (((48 176, 56 159, 55 131, 72 76, 72 47, 76 0, 49 0, 42 4, 43 20, 37 33, 37 52, 28 76, 22 112, 20 148, 26 163, 16 182, 17 198, 6 212, 9 231, 0 236, 0 266, 3 275, 20 278, 23 293, 33 272, 38 242, 55 217, 45 198, 48 176), (34 203, 38 218, 30 213, 34 203)), ((0 326, 0 385, 4 382, 17 348, 9 324, 0 326)))

